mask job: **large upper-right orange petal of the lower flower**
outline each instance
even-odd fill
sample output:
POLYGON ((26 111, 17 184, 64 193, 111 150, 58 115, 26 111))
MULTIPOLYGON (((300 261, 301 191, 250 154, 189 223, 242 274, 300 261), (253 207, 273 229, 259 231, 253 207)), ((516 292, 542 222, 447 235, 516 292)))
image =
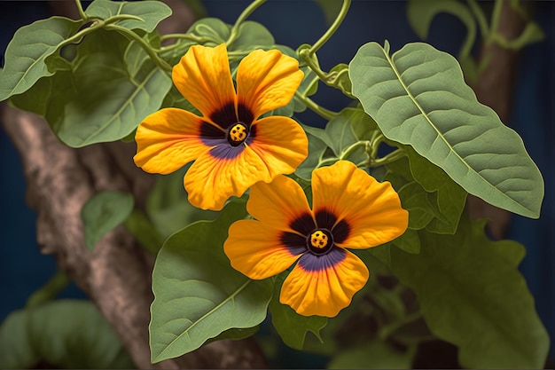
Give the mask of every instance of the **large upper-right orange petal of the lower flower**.
MULTIPOLYGON (((312 173, 314 213, 328 211, 337 217, 336 244, 343 248, 370 248, 394 240, 405 232, 409 213, 388 182, 338 161, 312 173)), ((333 231, 336 234, 336 231, 333 231)))

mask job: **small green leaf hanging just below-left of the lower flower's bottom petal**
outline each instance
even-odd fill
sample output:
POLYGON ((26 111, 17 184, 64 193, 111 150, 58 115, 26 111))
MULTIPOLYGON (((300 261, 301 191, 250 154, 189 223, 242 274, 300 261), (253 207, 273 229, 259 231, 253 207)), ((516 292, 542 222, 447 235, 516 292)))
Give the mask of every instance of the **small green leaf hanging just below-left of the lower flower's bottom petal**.
POLYGON ((302 316, 287 304, 279 303, 279 293, 285 276, 278 275, 274 296, 270 301, 271 322, 277 334, 289 347, 302 350, 304 340, 309 332, 322 342, 320 330, 326 326, 328 319, 322 316, 302 316))

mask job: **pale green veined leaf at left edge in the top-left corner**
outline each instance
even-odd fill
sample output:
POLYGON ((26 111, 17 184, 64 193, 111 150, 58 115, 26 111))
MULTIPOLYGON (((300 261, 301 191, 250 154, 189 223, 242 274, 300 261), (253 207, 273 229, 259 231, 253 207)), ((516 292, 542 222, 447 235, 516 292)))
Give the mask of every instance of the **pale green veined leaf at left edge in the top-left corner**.
POLYGON ((0 70, 0 101, 30 89, 41 77, 53 75, 45 61, 66 44, 82 21, 63 17, 37 20, 13 35, 0 70))

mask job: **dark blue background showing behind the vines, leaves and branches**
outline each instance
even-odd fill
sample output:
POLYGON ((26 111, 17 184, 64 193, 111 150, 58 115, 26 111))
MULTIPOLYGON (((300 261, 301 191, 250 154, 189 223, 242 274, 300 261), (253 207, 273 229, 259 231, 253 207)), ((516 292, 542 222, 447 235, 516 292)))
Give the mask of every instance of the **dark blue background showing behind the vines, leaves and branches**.
MULTIPOLYGON (((233 23, 249 3, 204 1, 209 16, 227 23, 233 23)), ((555 20, 555 3, 538 2, 535 5, 535 19, 541 24, 546 38, 522 52, 512 119, 506 123, 523 138, 528 153, 543 173, 546 192, 541 218, 531 220, 513 216, 508 237, 527 247, 527 256, 520 270, 535 296, 537 311, 553 337, 555 74, 552 67, 555 66, 555 30, 552 22, 555 20)), ((0 51, 4 51, 17 28, 48 16, 49 9, 44 2, 0 2, 0 51)), ((287 44, 293 49, 301 43, 316 42, 326 29, 323 12, 311 0, 270 0, 254 12, 250 20, 264 24, 275 35, 277 43, 287 44)), ((427 42, 456 54, 464 35, 465 29, 459 21, 449 15, 441 15, 434 20, 427 42)), ((405 3, 353 1, 346 20, 318 51, 318 57, 323 69, 327 70, 338 63, 348 63, 363 43, 377 41, 383 44, 385 39, 391 43, 392 51, 397 51, 405 43, 421 41, 406 20, 405 3)), ((338 91, 325 86, 320 86, 315 100, 332 110, 340 110, 348 103, 348 99, 338 91)), ((322 119, 310 112, 300 117, 306 124, 324 124, 322 119)), ((56 266, 52 257, 42 256, 36 245, 35 212, 28 209, 25 202, 26 185, 20 157, 4 130, 0 130, 0 161, 0 319, 4 319, 10 311, 25 304, 27 296, 43 285, 56 271, 56 266)), ((82 296, 82 293, 71 286, 63 295, 82 296)), ((551 345, 551 358, 553 355, 551 345)))

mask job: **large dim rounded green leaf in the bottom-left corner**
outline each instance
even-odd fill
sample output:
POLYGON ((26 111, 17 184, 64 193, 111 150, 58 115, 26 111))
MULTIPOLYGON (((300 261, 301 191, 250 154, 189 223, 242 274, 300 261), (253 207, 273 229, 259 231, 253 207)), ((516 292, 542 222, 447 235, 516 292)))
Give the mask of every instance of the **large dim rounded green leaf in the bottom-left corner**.
POLYGON ((13 311, 0 327, 0 367, 134 368, 120 339, 88 301, 60 300, 13 311))

